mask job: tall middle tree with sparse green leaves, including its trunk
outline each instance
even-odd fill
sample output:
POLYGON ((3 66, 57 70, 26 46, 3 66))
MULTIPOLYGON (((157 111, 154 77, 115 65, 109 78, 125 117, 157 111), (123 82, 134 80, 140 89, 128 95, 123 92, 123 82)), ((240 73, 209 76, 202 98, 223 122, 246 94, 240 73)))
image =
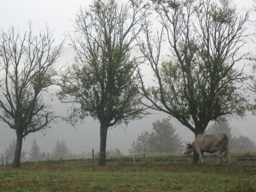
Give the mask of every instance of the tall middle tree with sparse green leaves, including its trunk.
POLYGON ((100 164, 106 164, 108 128, 145 114, 138 92, 139 63, 131 56, 144 17, 142 0, 94 0, 80 8, 75 31, 67 35, 75 57, 58 96, 74 104, 68 118, 72 124, 89 115, 100 122, 100 164))

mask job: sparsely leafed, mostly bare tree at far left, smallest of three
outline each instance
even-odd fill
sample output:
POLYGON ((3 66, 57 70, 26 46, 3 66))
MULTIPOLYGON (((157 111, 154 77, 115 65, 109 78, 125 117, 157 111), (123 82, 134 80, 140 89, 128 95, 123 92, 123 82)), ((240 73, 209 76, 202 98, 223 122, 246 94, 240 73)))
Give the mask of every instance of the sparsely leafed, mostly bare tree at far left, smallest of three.
POLYGON ((20 166, 22 139, 49 127, 55 119, 51 107, 44 102, 44 93, 56 83, 56 61, 62 46, 63 42, 54 46, 48 27, 34 36, 31 22, 23 36, 16 33, 14 27, 8 32, 1 31, 0 120, 16 132, 15 167, 20 166))

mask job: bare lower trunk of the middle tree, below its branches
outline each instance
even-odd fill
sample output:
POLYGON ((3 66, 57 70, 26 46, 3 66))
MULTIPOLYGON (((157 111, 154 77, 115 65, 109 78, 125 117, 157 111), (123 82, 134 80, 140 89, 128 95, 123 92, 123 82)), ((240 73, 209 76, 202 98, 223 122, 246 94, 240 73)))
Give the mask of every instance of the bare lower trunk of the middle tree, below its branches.
POLYGON ((99 164, 106 165, 106 142, 107 142, 108 125, 100 123, 100 158, 99 164))

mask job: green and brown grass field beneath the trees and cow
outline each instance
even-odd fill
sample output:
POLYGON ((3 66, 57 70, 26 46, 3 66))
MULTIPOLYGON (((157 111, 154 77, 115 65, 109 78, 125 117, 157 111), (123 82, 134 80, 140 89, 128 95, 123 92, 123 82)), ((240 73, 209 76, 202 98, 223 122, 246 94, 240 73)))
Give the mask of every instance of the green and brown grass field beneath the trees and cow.
POLYGON ((24 162, 0 168, 1 192, 256 192, 256 156, 232 156, 232 165, 206 156, 119 157, 106 166, 88 159, 24 162))

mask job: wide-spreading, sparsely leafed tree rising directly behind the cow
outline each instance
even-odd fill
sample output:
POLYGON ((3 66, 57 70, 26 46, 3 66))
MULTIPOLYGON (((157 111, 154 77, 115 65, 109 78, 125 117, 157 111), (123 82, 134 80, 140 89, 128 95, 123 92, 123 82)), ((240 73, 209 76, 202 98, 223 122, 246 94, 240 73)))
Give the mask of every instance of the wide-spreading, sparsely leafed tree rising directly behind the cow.
POLYGON ((144 83, 142 95, 153 105, 146 106, 170 114, 195 136, 212 120, 244 116, 247 100, 240 88, 246 78, 236 64, 245 56, 249 12, 239 12, 230 0, 152 4, 161 28, 153 36, 145 21, 145 36, 138 39, 158 84, 144 83))

